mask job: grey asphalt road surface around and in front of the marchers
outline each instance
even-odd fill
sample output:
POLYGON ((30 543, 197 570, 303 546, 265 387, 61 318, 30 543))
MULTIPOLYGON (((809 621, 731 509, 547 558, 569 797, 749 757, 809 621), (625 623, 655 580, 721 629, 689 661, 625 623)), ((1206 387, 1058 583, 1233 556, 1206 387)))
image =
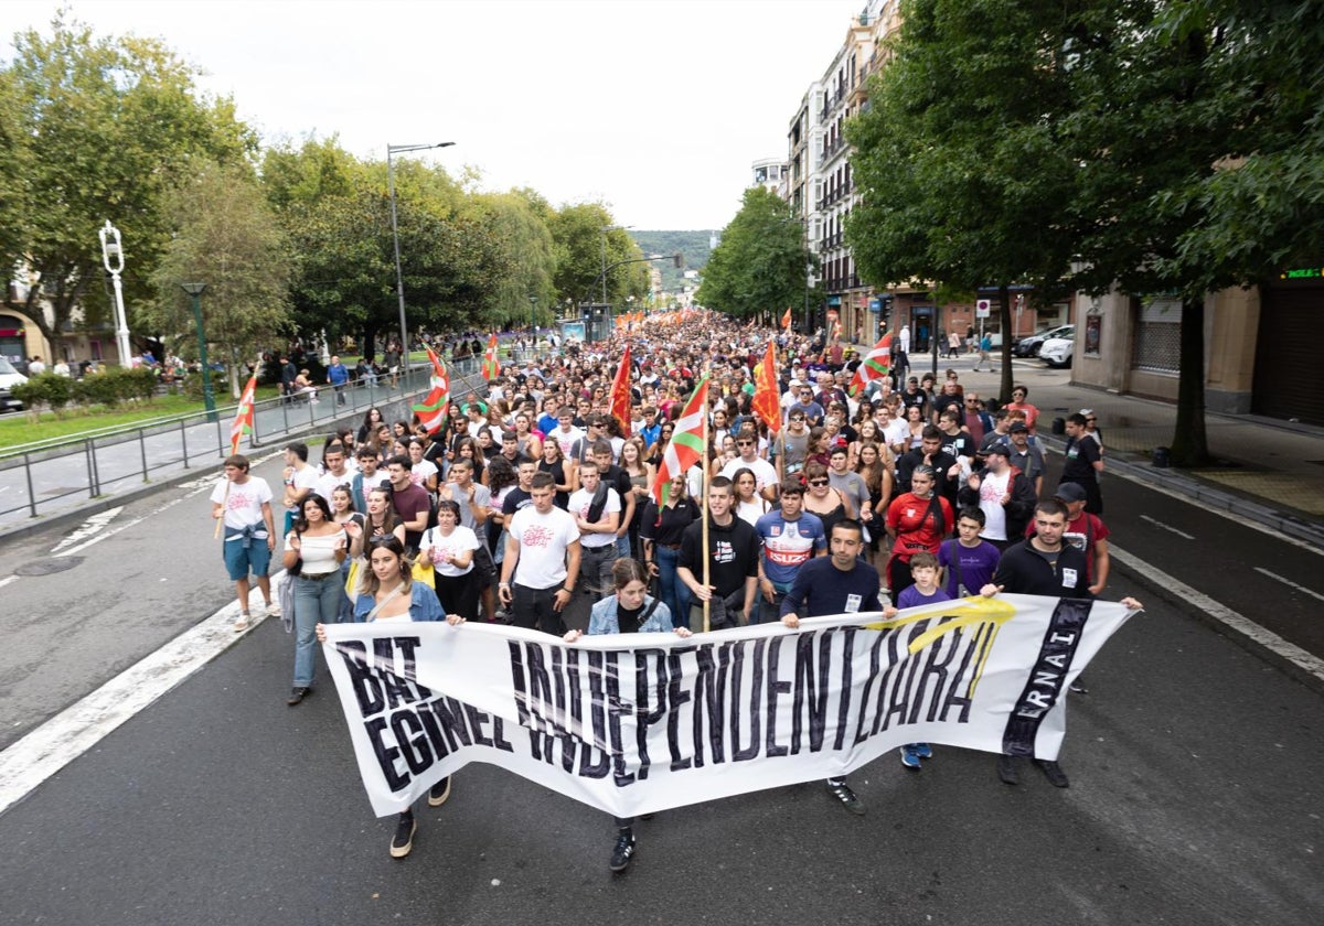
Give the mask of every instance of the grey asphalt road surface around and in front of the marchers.
MULTIPOLYGON (((5 586, 4 745, 229 601, 205 492, 130 505, 102 530, 143 520, 81 564, 5 586)), ((1315 639, 1311 595, 1254 570, 1324 593, 1317 553, 1120 479, 1104 493, 1119 546, 1315 639)), ((0 579, 57 542, 0 549, 0 579)), ((1030 769, 1008 787, 964 750, 918 774, 888 757, 851 777, 865 818, 820 782, 681 808, 638 825, 625 876, 602 814, 487 766, 389 859, 324 667, 287 708, 269 620, 0 815, 0 923, 1324 921, 1321 696, 1115 565, 1125 594, 1148 611, 1070 697, 1068 790, 1030 769)))

